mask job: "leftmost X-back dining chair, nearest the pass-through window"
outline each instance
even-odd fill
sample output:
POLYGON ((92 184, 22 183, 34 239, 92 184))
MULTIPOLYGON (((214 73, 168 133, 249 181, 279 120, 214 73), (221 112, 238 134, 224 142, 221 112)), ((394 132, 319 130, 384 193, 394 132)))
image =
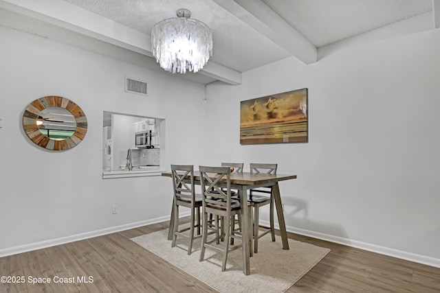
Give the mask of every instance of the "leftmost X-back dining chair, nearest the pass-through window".
POLYGON ((201 237, 200 208, 201 194, 195 193, 194 166, 192 165, 171 165, 171 176, 173 178, 173 242, 171 247, 176 246, 177 236, 188 237, 188 255, 192 253, 194 239, 201 237), (190 182, 184 182, 186 176, 190 176, 190 182), (190 226, 179 227, 179 207, 188 207, 190 213, 190 226), (196 218, 197 216, 197 218, 196 218), (197 222, 197 224, 196 224, 197 222), (197 235, 194 235, 197 228, 197 235), (186 232, 186 231, 189 231, 186 232))

